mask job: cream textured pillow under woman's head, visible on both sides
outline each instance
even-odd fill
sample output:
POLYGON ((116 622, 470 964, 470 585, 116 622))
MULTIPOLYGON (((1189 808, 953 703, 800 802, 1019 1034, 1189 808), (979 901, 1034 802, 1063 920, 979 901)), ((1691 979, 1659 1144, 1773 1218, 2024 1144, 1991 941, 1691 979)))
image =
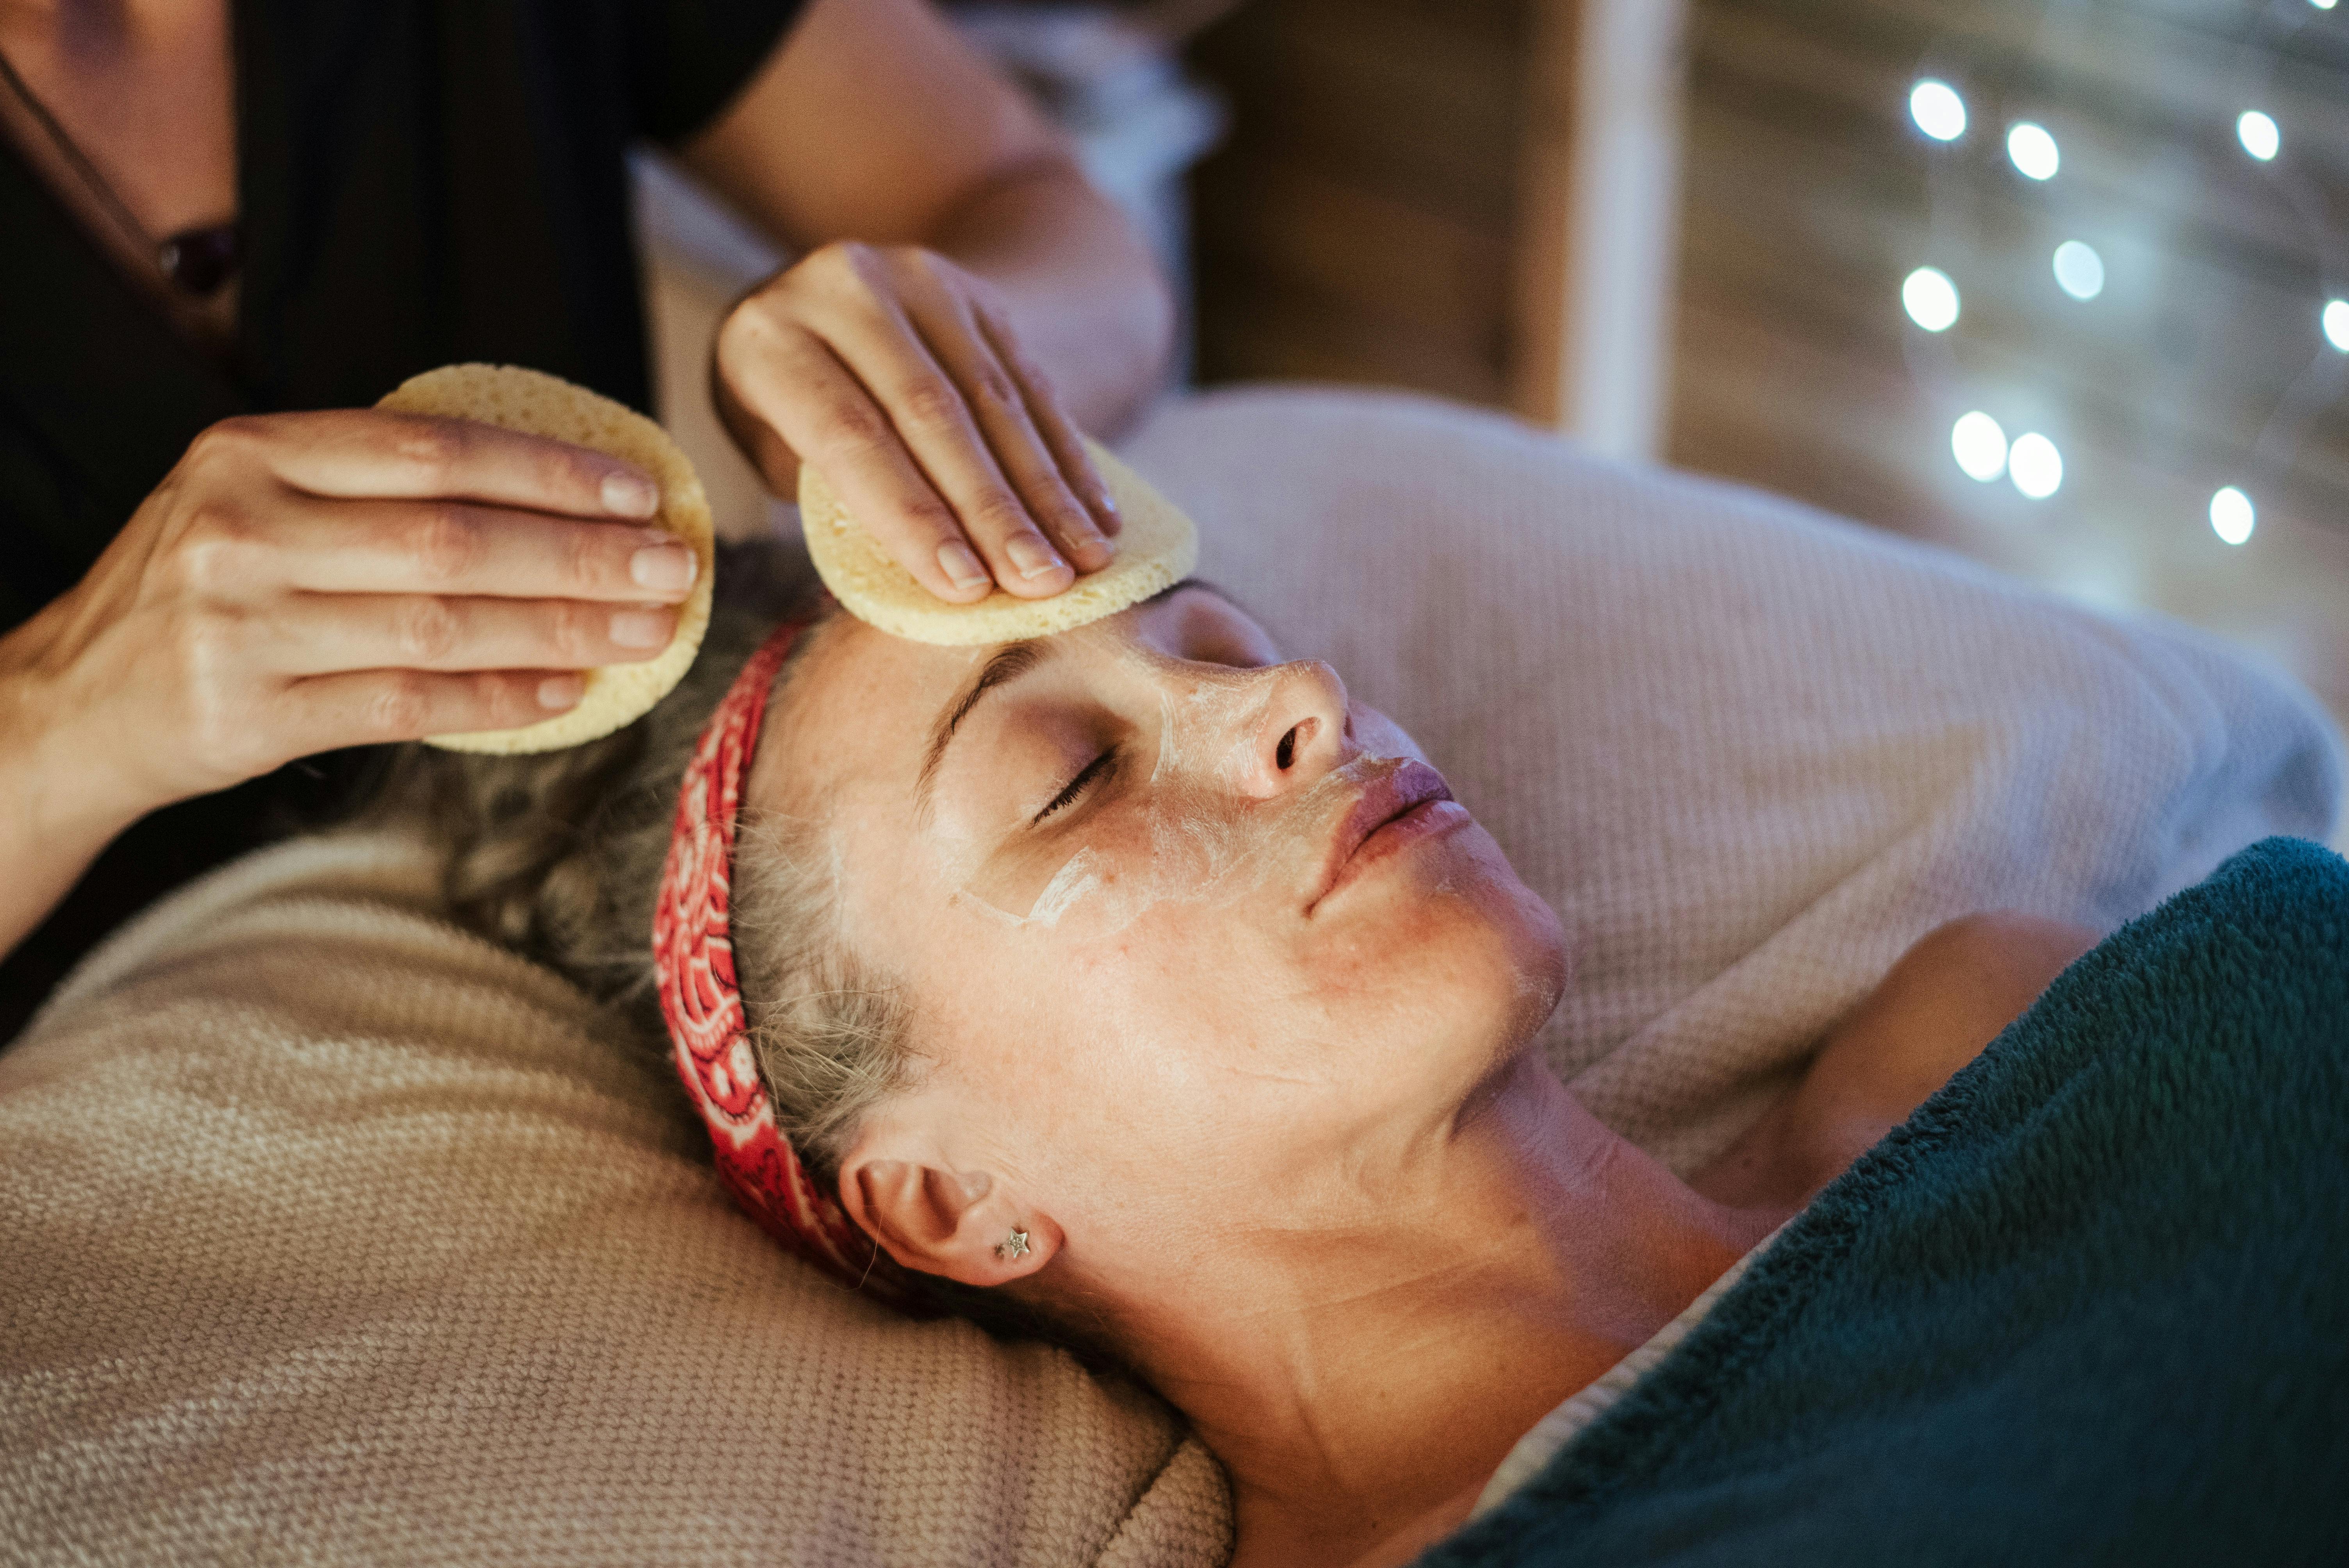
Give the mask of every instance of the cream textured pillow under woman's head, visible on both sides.
MULTIPOLYGON (((1799 507, 1416 399, 1236 392, 1135 465, 1581 934, 1546 1045, 1675 1160, 1921 930, 2116 920, 2323 833, 2314 707, 1799 507)), ((0 1056, 0 1559, 1144 1563, 1214 1462, 728 1207, 681 1094, 395 840, 153 911, 0 1056)))

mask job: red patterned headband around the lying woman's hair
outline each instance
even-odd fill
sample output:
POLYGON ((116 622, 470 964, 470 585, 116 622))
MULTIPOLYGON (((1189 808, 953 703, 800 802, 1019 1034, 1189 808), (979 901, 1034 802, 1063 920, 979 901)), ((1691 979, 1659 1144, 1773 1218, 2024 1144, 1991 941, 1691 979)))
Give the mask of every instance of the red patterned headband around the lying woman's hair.
POLYGON ((728 894, 735 812, 759 751, 759 723, 775 674, 806 622, 787 622, 749 657, 702 730, 677 793, 669 859, 653 906, 653 969, 660 1016, 677 1047, 677 1075, 709 1124, 719 1176, 778 1242, 834 1279, 897 1307, 916 1307, 897 1263, 824 1197, 775 1127, 749 1016, 735 986, 728 894))

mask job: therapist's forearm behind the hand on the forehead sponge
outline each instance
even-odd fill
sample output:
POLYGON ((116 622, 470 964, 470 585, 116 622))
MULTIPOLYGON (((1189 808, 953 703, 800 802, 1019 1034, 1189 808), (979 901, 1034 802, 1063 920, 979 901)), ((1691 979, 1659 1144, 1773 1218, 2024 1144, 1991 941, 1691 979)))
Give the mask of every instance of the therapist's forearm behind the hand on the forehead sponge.
POLYGON ((996 286, 1081 427, 1113 434, 1158 390, 1174 300, 1125 216, 1066 157, 994 181, 926 244, 996 286))

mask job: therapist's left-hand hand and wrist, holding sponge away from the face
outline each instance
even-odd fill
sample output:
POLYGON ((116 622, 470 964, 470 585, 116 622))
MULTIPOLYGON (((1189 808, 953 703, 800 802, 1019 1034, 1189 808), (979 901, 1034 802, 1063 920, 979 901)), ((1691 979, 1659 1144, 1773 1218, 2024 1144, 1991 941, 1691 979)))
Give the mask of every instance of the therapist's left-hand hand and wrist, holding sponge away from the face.
POLYGON ((16 807, 110 833, 312 751, 559 714, 677 627, 695 559, 653 509, 615 458, 470 420, 214 425, 0 638, 16 807))

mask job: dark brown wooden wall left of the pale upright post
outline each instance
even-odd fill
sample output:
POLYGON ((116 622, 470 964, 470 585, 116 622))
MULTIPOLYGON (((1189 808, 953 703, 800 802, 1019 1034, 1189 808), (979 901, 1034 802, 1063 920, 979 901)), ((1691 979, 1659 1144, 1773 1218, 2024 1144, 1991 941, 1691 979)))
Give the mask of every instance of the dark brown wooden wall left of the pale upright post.
POLYGON ((1200 380, 1506 390, 1525 0, 1250 0, 1191 49, 1200 380))

